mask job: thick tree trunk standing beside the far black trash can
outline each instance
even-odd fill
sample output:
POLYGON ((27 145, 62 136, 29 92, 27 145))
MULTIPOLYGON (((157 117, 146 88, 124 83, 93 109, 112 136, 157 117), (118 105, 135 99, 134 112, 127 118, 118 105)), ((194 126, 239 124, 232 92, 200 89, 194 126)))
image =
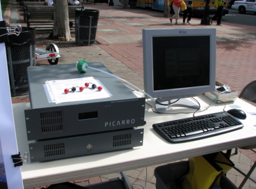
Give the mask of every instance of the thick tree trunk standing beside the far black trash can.
POLYGON ((71 40, 67 0, 54 0, 53 38, 71 40))

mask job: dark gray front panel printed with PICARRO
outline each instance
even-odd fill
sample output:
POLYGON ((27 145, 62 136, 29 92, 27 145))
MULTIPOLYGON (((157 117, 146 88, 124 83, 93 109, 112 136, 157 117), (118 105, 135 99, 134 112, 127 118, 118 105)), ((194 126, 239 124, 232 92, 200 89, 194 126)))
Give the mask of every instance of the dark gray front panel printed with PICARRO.
POLYGON ((144 98, 25 111, 28 140, 50 139, 144 125, 144 98), (83 114, 84 119, 79 119, 83 114))

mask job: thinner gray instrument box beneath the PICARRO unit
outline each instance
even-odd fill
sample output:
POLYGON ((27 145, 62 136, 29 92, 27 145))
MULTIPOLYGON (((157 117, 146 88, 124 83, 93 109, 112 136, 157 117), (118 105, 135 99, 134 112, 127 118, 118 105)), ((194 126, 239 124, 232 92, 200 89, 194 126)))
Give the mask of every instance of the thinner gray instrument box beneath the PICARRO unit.
POLYGON ((30 143, 30 161, 62 159, 142 146, 143 130, 131 128, 30 143))

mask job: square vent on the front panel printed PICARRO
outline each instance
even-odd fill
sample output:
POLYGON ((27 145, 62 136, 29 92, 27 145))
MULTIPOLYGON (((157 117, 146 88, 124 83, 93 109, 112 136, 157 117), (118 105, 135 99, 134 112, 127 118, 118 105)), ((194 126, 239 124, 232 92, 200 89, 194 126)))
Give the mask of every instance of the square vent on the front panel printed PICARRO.
POLYGON ((53 132, 63 130, 62 110, 40 112, 41 132, 53 132))

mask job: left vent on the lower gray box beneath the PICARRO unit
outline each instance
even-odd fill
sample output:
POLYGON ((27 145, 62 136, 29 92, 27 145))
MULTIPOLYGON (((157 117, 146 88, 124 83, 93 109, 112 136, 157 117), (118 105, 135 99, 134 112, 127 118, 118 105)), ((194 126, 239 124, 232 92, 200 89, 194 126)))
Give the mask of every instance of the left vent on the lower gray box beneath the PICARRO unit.
POLYGON ((56 143, 44 145, 45 157, 64 155, 65 154, 65 144, 64 143, 56 143))

